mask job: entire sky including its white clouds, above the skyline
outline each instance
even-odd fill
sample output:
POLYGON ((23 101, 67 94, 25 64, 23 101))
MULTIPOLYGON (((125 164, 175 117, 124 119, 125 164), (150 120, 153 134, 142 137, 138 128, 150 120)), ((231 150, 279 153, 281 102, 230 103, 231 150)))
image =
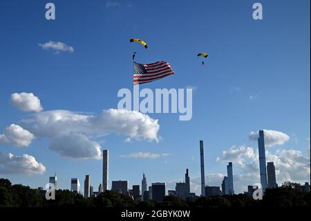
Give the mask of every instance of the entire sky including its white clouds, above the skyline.
POLYGON ((109 150, 108 189, 120 179, 141 184, 145 173, 149 186, 174 190, 188 168, 200 195, 221 185, 232 162, 234 192, 243 193, 261 182, 264 130, 276 182, 310 180, 310 1, 263 0, 261 21, 250 1, 109 2, 73 10, 55 0, 53 21, 44 3, 1 3, 0 177, 37 188, 56 172, 57 188, 70 189, 71 178, 83 186, 90 175, 96 191, 109 150), (129 42, 136 37, 148 48, 129 42), (118 91, 133 89, 134 51, 135 62, 164 60, 175 72, 140 89, 192 89, 191 121, 117 109, 118 91))

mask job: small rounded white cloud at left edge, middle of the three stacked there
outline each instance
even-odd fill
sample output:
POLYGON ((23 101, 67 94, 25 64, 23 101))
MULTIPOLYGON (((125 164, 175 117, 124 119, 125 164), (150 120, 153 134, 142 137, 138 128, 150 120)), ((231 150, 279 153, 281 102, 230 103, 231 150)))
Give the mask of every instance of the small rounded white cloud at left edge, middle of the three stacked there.
POLYGON ((35 136, 32 133, 15 124, 6 127, 3 134, 0 134, 0 142, 17 147, 27 147, 33 139, 35 136))

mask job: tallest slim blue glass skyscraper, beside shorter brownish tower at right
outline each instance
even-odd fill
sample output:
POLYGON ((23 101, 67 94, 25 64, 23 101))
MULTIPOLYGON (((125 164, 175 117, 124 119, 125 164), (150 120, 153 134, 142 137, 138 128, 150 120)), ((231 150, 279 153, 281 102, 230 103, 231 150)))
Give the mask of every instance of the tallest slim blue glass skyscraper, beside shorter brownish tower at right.
POLYGON ((261 175, 261 187, 263 188, 263 193, 265 193, 265 188, 267 188, 267 170, 265 164, 265 137, 263 130, 259 130, 258 137, 258 153, 259 153, 259 170, 261 175))

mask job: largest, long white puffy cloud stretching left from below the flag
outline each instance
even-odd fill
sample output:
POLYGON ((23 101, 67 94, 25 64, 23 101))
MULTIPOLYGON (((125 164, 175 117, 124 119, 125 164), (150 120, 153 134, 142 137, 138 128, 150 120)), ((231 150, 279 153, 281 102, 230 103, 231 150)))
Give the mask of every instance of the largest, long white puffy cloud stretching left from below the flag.
POLYGON ((126 109, 108 109, 97 115, 53 110, 33 114, 21 124, 38 137, 53 138, 70 133, 104 136, 112 132, 157 142, 160 129, 158 120, 126 109))

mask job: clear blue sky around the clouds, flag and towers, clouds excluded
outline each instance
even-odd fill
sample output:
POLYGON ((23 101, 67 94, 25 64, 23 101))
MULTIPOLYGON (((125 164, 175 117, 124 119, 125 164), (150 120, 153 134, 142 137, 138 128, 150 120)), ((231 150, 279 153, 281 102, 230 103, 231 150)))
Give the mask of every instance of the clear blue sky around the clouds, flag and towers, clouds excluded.
MULTIPOLYGON (((290 137, 268 149, 280 159, 288 155, 278 150, 310 152, 310 1, 260 1, 260 21, 252 19, 253 1, 55 0, 53 21, 45 19, 47 2, 1 1, 0 134, 33 114, 11 105, 12 93, 35 94, 44 111, 100 114, 103 109, 116 109, 117 91, 132 88, 131 55, 136 51, 137 62, 166 60, 176 72, 141 88, 196 88, 193 118, 179 121, 178 114, 149 114, 158 119, 159 143, 124 143, 127 136, 117 133, 93 137, 110 150, 110 181, 140 184, 143 170, 149 184, 182 181, 186 168, 190 177, 197 178, 200 139, 205 141, 206 173, 223 175, 227 161, 216 161, 217 157, 232 145, 256 150, 256 141, 248 134, 259 129, 290 137), (133 37, 144 39, 149 48, 130 44, 133 37), (63 42, 74 51, 56 54, 39 46, 49 41, 63 42), (204 67, 196 59, 201 51, 209 53, 204 67), (170 155, 120 157, 137 152, 170 155)), ((91 174, 97 189, 102 161, 61 157, 49 150, 50 143, 35 139, 23 148, 0 143, 2 154, 30 154, 46 166, 41 175, 0 176, 36 188, 56 172, 59 188, 70 188, 70 177, 83 182, 91 174)), ((243 172, 234 168, 234 173, 243 172)), ((309 173, 296 180, 304 179, 310 180, 310 154, 309 173)), ((212 184, 219 185, 219 179, 212 184)))

